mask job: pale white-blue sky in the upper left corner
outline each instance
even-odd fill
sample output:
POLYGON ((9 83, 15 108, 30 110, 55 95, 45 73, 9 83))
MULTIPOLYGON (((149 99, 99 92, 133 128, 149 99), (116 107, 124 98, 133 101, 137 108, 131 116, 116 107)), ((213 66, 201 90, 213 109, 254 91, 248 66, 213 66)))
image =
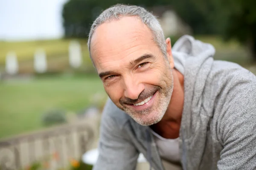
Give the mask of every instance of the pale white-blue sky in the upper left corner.
POLYGON ((67 0, 0 0, 0 40, 57 39, 64 35, 67 0))

